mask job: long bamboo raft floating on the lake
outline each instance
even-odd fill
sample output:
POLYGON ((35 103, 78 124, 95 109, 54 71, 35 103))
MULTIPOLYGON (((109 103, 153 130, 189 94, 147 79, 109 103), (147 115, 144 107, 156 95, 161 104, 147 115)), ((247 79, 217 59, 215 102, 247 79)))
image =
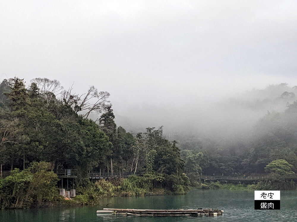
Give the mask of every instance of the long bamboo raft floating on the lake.
POLYGON ((104 208, 97 210, 97 213, 111 213, 114 215, 138 215, 138 216, 217 216, 223 215, 224 210, 208 209, 191 209, 191 210, 142 210, 142 209, 116 209, 104 208))

